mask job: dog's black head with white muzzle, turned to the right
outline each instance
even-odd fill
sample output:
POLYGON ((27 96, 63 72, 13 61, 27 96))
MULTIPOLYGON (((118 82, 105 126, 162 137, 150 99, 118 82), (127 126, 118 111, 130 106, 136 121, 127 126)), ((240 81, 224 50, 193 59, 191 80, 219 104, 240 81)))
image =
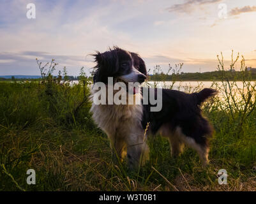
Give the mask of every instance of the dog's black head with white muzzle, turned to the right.
POLYGON ((93 83, 103 82, 107 85, 108 77, 115 82, 139 82, 146 80, 147 70, 144 61, 138 54, 114 47, 107 52, 93 55, 96 66, 93 83))

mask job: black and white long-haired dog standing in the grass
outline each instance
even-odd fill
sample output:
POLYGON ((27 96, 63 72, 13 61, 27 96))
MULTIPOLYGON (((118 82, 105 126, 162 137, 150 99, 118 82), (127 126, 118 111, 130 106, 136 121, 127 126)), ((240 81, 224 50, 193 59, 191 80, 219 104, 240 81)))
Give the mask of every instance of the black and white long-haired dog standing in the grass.
MULTIPOLYGON (((117 82, 139 82, 146 80, 147 70, 144 61, 138 54, 114 47, 107 52, 97 52, 93 55, 94 85, 98 82, 108 86, 108 78, 117 82)), ((128 89, 126 90, 128 94, 128 89)), ((154 89, 156 92, 157 89, 154 89)), ((92 92, 92 97, 95 91, 92 92)), ((133 89, 132 94, 142 98, 142 91, 133 89)), ((140 161, 147 158, 145 135, 156 135, 169 138, 172 155, 178 156, 184 144, 197 151, 205 165, 208 163, 208 138, 212 135, 212 127, 202 116, 200 105, 210 96, 213 89, 203 89, 200 92, 186 94, 181 91, 162 89, 162 110, 151 112, 152 105, 96 105, 92 104, 91 112, 98 126, 107 133, 110 146, 117 156, 128 158, 128 164, 135 168, 140 161), (147 130, 147 131, 146 131, 147 130), (142 157, 143 159, 140 160, 142 157)))

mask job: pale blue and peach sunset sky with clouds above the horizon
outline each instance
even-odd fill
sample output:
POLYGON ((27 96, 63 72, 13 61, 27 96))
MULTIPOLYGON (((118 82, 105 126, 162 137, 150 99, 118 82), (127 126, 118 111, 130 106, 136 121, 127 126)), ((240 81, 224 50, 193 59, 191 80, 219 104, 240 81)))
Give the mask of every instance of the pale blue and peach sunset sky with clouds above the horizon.
POLYGON ((232 50, 256 68, 255 36, 255 0, 0 0, 0 75, 40 75, 36 58, 55 59, 56 74, 64 66, 68 75, 89 73, 89 54, 115 45, 151 70, 215 71, 221 52, 228 68, 232 50))

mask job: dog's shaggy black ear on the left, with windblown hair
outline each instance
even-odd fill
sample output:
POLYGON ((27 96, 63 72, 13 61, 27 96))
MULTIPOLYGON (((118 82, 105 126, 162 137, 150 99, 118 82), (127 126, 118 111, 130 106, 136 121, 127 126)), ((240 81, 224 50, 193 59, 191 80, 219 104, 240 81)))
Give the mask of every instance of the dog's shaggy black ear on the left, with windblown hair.
POLYGON ((94 71, 93 83, 103 82, 107 84, 108 77, 114 77, 118 70, 118 59, 116 50, 107 52, 96 52, 93 54, 94 62, 96 62, 96 71, 94 71))

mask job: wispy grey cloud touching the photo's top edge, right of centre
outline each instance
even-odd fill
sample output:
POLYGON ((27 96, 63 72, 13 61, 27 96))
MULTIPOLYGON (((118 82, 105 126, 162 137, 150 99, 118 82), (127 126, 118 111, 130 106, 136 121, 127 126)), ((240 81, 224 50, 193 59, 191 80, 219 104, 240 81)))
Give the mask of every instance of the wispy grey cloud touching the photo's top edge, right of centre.
POLYGON ((195 6, 202 6, 206 4, 218 3, 222 0, 187 0, 183 4, 174 4, 167 8, 169 12, 178 12, 178 13, 191 13, 195 10, 195 6))

